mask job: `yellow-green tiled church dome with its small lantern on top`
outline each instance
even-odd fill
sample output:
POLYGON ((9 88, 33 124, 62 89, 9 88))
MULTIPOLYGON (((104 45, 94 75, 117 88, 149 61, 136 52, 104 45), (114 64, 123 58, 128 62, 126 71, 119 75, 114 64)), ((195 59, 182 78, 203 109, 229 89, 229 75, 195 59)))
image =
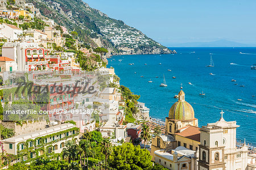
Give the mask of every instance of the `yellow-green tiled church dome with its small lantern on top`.
POLYGON ((194 109, 185 101, 185 93, 179 92, 179 100, 174 103, 169 111, 169 118, 174 120, 193 120, 195 118, 194 109))

